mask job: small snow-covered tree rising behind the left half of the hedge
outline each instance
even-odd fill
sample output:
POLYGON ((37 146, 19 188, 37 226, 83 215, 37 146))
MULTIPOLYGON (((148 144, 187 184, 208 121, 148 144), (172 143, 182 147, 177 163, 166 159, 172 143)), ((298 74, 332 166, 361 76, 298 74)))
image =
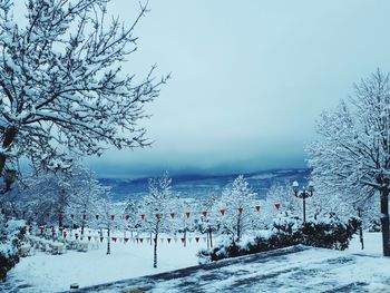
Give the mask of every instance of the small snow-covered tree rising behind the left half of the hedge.
POLYGON ((240 241, 243 233, 253 227, 256 195, 243 175, 235 178, 231 187, 225 187, 223 191, 220 203, 226 212, 222 218, 221 227, 230 233, 235 241, 240 241))

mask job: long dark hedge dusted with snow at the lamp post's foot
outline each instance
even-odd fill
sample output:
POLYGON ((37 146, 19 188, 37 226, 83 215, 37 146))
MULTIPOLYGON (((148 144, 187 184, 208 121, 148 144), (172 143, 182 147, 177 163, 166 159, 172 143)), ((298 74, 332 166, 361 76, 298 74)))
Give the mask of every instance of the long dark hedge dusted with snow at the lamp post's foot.
POLYGON ((309 218, 309 221, 302 223, 298 217, 291 216, 285 212, 274 219, 273 227, 266 234, 261 233, 240 242, 227 237, 213 248, 201 250, 197 256, 202 264, 298 244, 345 250, 360 225, 361 221, 358 217, 340 218, 334 214, 309 218))

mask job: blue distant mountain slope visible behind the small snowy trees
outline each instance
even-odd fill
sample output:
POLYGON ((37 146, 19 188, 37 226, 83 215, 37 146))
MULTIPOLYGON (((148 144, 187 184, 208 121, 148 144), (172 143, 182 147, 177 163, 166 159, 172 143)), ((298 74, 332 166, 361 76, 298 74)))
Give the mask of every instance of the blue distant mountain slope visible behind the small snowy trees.
MULTIPOLYGON (((300 184, 306 184, 310 176, 310 169, 272 169, 245 174, 245 177, 252 188, 261 198, 265 197, 267 189, 275 183, 285 180, 298 180, 300 184)), ((173 191, 181 197, 204 198, 211 193, 220 195, 222 189, 231 184, 237 174, 231 175, 181 175, 172 179, 173 191)), ((139 179, 115 179, 100 178, 101 184, 111 187, 113 196, 117 201, 123 201, 128 196, 140 198, 147 194, 148 178, 139 179)))

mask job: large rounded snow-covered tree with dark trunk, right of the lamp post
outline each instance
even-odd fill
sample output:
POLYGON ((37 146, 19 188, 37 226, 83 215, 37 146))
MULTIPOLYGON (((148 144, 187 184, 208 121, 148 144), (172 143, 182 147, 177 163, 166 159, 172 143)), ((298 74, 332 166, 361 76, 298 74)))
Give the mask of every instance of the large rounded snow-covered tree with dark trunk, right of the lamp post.
POLYGON ((390 79, 380 70, 355 85, 350 102, 323 113, 308 147, 323 189, 359 203, 380 193, 383 255, 390 256, 390 79))

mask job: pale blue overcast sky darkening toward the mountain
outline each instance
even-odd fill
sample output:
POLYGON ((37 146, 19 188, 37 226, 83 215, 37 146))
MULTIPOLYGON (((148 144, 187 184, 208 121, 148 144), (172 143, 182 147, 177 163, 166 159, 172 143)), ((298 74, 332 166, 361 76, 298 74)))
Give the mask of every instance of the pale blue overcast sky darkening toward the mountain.
MULTIPOLYGON (((172 72, 150 149, 87 159, 99 176, 304 167, 320 113, 390 66, 390 1, 150 0, 126 65, 172 72)), ((129 25, 138 1, 113 0, 129 25)))

